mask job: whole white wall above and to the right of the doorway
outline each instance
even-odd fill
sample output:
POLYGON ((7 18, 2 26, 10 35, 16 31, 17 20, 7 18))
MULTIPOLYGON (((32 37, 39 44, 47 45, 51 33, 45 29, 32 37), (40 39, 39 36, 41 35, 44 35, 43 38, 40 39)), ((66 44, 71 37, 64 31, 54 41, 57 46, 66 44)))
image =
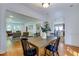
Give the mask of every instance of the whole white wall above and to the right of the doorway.
POLYGON ((49 12, 48 21, 53 30, 54 24, 65 23, 65 44, 79 47, 79 4, 73 7, 62 4, 53 8, 49 12))

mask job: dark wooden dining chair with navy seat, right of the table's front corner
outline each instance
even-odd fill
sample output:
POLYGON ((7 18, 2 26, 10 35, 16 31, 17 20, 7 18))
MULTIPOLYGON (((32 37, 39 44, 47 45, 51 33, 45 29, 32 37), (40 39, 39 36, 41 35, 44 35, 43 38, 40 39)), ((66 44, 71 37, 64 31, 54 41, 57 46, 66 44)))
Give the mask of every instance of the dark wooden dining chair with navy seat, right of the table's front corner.
POLYGON ((46 46, 45 47, 45 55, 47 54, 47 50, 49 50, 50 52, 52 52, 53 56, 54 56, 54 53, 56 53, 59 56, 59 53, 58 53, 59 41, 60 41, 60 37, 58 37, 54 43, 46 46))

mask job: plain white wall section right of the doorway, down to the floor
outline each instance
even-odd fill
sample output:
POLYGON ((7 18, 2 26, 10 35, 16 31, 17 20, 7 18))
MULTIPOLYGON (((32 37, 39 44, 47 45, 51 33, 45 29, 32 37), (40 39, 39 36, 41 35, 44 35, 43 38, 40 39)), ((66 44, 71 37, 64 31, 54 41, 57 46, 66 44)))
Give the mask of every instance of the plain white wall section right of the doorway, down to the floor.
POLYGON ((65 11, 65 44, 79 47, 79 7, 65 11))

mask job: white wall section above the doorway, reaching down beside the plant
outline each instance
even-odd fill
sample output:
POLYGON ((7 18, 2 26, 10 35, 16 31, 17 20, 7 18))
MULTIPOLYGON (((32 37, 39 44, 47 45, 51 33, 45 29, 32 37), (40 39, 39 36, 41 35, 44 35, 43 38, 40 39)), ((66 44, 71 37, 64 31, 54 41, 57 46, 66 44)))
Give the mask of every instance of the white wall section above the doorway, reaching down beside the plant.
POLYGON ((52 10, 49 12, 47 20, 50 24, 51 32, 54 33, 54 25, 64 23, 63 12, 60 10, 52 10))

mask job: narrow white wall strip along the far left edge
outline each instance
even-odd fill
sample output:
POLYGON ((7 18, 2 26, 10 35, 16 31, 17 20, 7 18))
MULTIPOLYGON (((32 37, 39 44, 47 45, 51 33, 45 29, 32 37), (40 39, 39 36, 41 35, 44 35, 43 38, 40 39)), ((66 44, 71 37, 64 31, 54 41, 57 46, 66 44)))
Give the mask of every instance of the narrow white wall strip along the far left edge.
POLYGON ((7 50, 6 40, 5 8, 0 4, 0 54, 7 50))

